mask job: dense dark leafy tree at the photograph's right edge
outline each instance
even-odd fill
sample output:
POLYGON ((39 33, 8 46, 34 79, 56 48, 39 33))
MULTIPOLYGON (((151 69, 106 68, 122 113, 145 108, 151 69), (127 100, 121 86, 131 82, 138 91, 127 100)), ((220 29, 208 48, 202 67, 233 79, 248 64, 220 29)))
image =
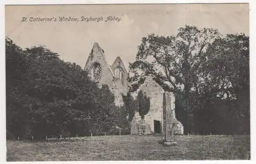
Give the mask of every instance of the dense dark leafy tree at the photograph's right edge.
POLYGON ((202 92, 210 91, 227 106, 221 116, 233 132, 249 133, 249 37, 228 34, 212 42, 206 53, 210 55, 201 71, 202 92))

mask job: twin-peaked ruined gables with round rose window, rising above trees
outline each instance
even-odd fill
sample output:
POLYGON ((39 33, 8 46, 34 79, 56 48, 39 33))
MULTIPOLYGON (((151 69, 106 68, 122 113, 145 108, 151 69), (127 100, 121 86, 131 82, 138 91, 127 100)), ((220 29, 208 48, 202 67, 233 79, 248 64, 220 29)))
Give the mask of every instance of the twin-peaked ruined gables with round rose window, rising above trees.
POLYGON ((126 95, 128 89, 128 74, 120 57, 117 57, 110 66, 105 58, 104 51, 95 42, 84 69, 88 71, 92 80, 98 82, 99 87, 102 84, 109 86, 115 95, 117 106, 123 105, 122 94, 126 95))

